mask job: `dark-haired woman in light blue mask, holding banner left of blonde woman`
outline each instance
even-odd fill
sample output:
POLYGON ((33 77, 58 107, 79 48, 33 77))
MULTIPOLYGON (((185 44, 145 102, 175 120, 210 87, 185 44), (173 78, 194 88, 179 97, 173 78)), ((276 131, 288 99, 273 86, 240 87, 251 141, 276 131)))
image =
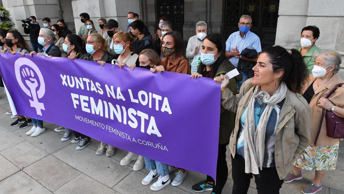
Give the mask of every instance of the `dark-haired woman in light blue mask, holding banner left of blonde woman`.
MULTIPOLYGON (((54 26, 54 25, 53 25, 54 26)), ((84 41, 75 34, 68 34, 62 45, 63 51, 66 53, 66 57, 71 60, 75 58, 80 58, 86 53, 84 46, 84 41)), ((73 130, 59 126, 54 129, 56 132, 65 131, 65 134, 62 136, 61 141, 67 141, 73 135, 73 130)))

